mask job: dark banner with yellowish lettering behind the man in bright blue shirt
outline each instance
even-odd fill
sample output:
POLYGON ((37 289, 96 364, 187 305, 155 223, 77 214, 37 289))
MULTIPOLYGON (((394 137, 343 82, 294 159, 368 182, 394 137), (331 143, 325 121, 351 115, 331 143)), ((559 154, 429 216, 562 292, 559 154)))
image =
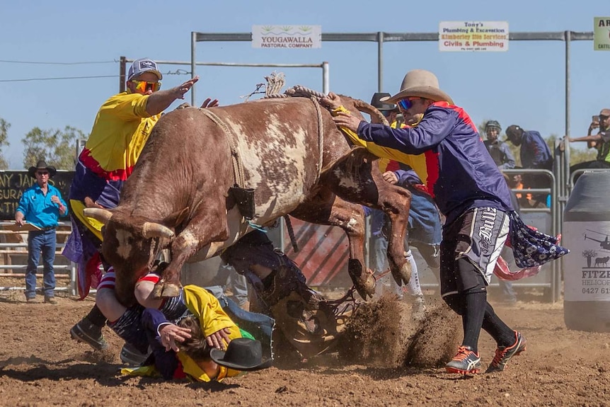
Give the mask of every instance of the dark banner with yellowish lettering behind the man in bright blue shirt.
MULTIPOLYGON (((74 171, 57 171, 50 178, 49 183, 62 193, 65 201, 68 200, 70 185, 74 178, 74 171)), ((0 171, 0 219, 14 220, 15 211, 21 200, 23 192, 30 188, 36 180, 29 176, 28 171, 0 171)))

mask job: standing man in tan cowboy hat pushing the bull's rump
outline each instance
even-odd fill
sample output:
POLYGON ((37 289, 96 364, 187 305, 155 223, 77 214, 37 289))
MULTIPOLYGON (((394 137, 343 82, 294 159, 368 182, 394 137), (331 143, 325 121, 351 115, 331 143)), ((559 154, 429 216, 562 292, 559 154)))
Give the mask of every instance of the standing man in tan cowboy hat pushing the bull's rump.
MULTIPOLYGON (((507 183, 485 149, 476 125, 439 88, 432 72, 409 71, 401 90, 385 100, 398 104, 410 127, 396 129, 361 121, 350 115, 333 93, 323 103, 355 143, 424 154, 429 174, 427 189, 447 218, 440 247, 441 295, 462 317, 464 325, 464 340, 454 359, 447 363, 447 372, 480 372, 477 346, 481 328, 497 342, 487 372, 502 371, 513 356, 526 348, 524 336, 509 328, 487 302, 486 287, 502 247, 510 239, 519 267, 547 263, 568 250, 558 246, 558 238, 534 231, 522 222, 512 207, 507 183)), ((386 158, 396 155, 399 154, 386 158)))

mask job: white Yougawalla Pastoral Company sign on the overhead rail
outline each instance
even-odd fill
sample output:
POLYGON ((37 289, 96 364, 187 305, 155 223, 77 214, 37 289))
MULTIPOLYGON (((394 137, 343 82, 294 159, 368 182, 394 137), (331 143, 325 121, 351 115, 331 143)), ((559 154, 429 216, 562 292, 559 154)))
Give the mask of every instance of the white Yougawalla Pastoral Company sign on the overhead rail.
POLYGON ((302 49, 322 47, 321 25, 253 25, 253 48, 302 49))

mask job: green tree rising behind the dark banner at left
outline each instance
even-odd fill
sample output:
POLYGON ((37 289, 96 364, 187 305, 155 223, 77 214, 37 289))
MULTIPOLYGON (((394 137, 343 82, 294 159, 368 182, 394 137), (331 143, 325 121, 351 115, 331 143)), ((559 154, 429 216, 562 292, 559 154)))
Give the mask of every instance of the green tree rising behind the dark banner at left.
POLYGON ((24 148, 23 167, 28 168, 38 160, 45 160, 57 169, 74 169, 77 139, 86 139, 86 135, 74 127, 66 126, 64 130, 34 127, 21 139, 24 148))

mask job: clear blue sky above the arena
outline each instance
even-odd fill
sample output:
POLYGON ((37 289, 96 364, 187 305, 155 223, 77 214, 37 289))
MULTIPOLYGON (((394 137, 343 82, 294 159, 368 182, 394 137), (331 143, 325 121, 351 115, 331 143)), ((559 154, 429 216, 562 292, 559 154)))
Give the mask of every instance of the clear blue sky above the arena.
MULTIPOLYGON (((252 25, 321 25, 323 33, 434 33, 440 21, 508 21, 511 32, 593 30, 610 16, 599 1, 5 1, 0 6, 0 117, 11 124, 3 151, 23 167, 21 139, 33 127, 86 134, 101 103, 118 92, 118 59, 190 61, 190 33, 249 33, 252 25), (383 6, 373 6, 383 4, 383 6), (100 76, 91 79, 16 79, 100 76), (106 77, 103 77, 106 76, 106 77)), ((572 42, 571 134, 585 135, 591 115, 609 108, 610 52, 572 42)), ((396 93, 404 74, 422 68, 476 123, 495 119, 543 137, 565 133, 564 42, 513 41, 507 52, 439 52, 437 42, 387 42, 383 91, 396 93)), ((198 42, 198 62, 330 64, 330 90, 369 101, 377 91, 376 43, 323 42, 317 50, 253 49, 249 42, 198 42)), ((161 66, 163 73, 185 65, 161 66)), ((197 67, 197 103, 207 96, 239 103, 272 68, 197 67)), ((281 68, 287 86, 322 90, 321 69, 281 68)), ((186 75, 166 74, 163 88, 186 75)), ((190 101, 190 94, 187 94, 190 101)), ((175 103, 178 105, 178 103, 175 103)), ((171 108, 175 107, 171 106, 171 108)), ((580 143, 583 144, 583 143, 580 143)), ((584 146, 580 146, 584 147, 584 146)))

